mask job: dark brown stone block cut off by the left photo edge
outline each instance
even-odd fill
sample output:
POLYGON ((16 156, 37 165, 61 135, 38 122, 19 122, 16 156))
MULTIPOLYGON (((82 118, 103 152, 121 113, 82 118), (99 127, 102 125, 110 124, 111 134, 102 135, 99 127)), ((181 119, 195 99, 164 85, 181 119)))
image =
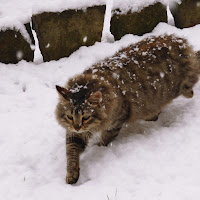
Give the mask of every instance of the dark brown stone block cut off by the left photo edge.
MULTIPOLYGON (((25 26, 31 30, 29 24, 26 24, 25 26)), ((33 37, 31 40, 34 44, 33 37)), ((9 29, 5 31, 1 30, 0 47, 0 62, 2 63, 15 64, 22 59, 26 61, 33 61, 34 51, 19 31, 9 29)))

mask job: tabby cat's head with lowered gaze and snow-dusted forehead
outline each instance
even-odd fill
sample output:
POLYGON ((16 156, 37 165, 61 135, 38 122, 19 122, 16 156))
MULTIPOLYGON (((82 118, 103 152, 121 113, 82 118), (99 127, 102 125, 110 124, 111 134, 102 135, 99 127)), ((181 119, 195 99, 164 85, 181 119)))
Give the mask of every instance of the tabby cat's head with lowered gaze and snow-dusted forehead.
POLYGON ((57 106, 57 119, 70 132, 83 133, 96 130, 105 118, 102 105, 102 92, 89 93, 87 89, 69 90, 56 86, 60 95, 57 106))

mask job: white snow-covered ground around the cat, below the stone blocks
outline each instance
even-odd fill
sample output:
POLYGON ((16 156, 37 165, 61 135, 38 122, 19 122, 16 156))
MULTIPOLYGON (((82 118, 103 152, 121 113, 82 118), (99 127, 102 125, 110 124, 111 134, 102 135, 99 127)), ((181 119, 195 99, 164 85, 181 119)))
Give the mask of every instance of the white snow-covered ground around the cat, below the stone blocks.
MULTIPOLYGON (((200 25, 180 30, 160 23, 151 34, 165 32, 200 50, 200 25)), ((151 34, 81 47, 59 61, 0 64, 0 199, 199 200, 200 83, 192 99, 179 97, 158 121, 138 121, 108 147, 88 148, 79 181, 65 183, 65 130, 54 116, 55 85, 151 34)))

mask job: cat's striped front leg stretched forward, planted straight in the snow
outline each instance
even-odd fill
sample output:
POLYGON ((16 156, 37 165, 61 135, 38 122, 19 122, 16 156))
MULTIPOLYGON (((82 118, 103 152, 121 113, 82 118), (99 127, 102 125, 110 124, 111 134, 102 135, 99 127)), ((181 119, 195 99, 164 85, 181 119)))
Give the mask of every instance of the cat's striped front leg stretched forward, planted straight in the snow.
POLYGON ((79 156, 86 146, 84 138, 79 136, 66 137, 66 153, 67 153, 67 176, 66 183, 74 184, 79 178, 79 156))

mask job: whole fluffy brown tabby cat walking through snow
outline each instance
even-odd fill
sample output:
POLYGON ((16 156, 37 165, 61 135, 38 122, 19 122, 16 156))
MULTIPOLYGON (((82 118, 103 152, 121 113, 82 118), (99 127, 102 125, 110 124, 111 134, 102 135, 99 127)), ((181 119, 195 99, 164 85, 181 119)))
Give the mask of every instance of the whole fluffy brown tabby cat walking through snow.
POLYGON ((186 39, 151 36, 130 45, 56 86, 56 118, 66 128, 66 182, 79 178, 79 155, 90 138, 101 132, 106 146, 124 122, 156 120, 179 95, 193 96, 200 65, 186 39))

